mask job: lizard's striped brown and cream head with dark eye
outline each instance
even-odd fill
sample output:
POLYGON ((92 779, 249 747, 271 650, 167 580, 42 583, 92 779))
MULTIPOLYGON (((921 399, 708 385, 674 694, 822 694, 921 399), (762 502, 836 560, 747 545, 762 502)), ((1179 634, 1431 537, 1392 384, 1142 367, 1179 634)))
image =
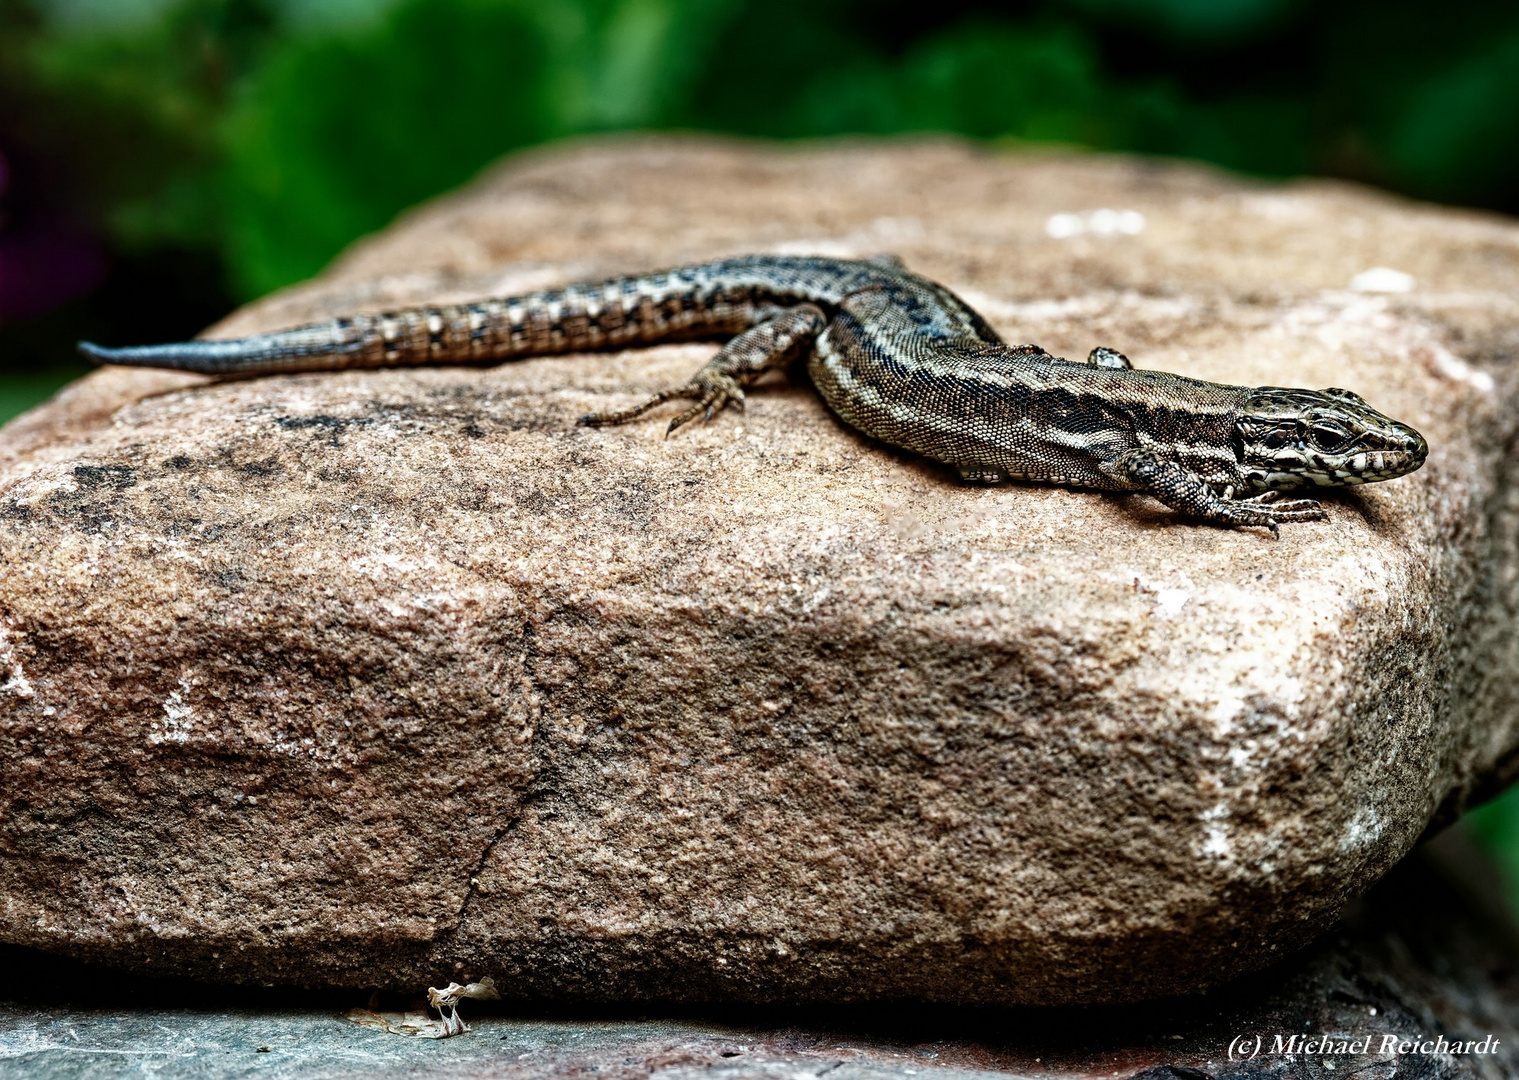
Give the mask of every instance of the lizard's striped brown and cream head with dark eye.
POLYGON ((1423 465, 1429 447, 1350 390, 1262 386, 1235 416, 1235 451, 1250 486, 1267 491, 1391 480, 1423 465))

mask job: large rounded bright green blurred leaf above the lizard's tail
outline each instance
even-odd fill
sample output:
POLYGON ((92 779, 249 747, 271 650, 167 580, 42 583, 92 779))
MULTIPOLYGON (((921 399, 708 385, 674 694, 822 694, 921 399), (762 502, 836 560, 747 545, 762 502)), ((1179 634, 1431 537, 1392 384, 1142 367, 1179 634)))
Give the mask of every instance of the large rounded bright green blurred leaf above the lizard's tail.
POLYGON ((544 138, 544 43, 513 6, 413 0, 378 26, 284 43, 226 126, 228 255, 245 295, 544 138))

